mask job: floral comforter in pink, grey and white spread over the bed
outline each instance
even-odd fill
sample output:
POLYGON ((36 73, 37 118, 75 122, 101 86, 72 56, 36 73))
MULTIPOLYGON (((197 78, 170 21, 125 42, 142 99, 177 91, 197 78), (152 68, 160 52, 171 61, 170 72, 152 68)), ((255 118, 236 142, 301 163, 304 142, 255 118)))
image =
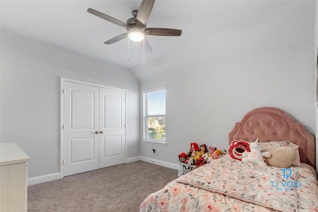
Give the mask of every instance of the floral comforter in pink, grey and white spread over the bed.
POLYGON ((316 171, 213 160, 150 194, 140 212, 318 212, 316 171))

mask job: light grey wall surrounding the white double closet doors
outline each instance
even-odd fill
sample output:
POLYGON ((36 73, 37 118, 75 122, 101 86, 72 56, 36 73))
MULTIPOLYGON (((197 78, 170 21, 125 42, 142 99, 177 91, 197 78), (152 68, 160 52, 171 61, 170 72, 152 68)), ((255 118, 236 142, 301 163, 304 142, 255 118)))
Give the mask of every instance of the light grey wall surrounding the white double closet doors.
POLYGON ((31 158, 29 178, 60 172, 60 77, 127 89, 127 157, 138 157, 139 81, 130 70, 1 30, 1 142, 31 158))

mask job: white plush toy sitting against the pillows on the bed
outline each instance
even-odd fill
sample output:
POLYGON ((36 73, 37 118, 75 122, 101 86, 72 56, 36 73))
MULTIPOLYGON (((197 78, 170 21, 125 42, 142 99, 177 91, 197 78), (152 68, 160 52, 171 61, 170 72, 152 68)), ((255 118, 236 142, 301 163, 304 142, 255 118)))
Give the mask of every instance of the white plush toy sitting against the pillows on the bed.
POLYGON ((250 148, 250 152, 244 152, 242 154, 243 156, 242 161, 251 162, 259 166, 267 166, 267 164, 264 162, 263 157, 266 157, 266 158, 270 157, 270 152, 269 151, 261 152, 263 147, 259 144, 258 139, 256 139, 255 142, 251 142, 249 144, 249 148, 250 148))

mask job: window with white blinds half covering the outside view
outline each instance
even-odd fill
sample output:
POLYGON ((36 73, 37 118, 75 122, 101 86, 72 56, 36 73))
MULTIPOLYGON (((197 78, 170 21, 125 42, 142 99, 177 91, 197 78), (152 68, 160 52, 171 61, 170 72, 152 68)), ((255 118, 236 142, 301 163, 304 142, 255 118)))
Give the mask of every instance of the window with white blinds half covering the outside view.
POLYGON ((143 92, 143 141, 165 143, 165 88, 143 92))

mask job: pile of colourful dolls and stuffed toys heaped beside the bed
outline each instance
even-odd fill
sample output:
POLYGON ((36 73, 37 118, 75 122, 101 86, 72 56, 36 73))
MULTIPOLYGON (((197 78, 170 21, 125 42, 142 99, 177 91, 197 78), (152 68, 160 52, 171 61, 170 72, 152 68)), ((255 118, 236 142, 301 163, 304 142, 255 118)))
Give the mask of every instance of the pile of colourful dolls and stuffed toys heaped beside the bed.
POLYGON ((216 147, 210 146, 210 151, 206 144, 200 145, 200 148, 196 142, 190 143, 189 152, 181 152, 179 154, 179 161, 182 163, 187 163, 188 165, 202 166, 211 162, 212 160, 219 159, 225 156, 227 151, 217 149, 216 147))

